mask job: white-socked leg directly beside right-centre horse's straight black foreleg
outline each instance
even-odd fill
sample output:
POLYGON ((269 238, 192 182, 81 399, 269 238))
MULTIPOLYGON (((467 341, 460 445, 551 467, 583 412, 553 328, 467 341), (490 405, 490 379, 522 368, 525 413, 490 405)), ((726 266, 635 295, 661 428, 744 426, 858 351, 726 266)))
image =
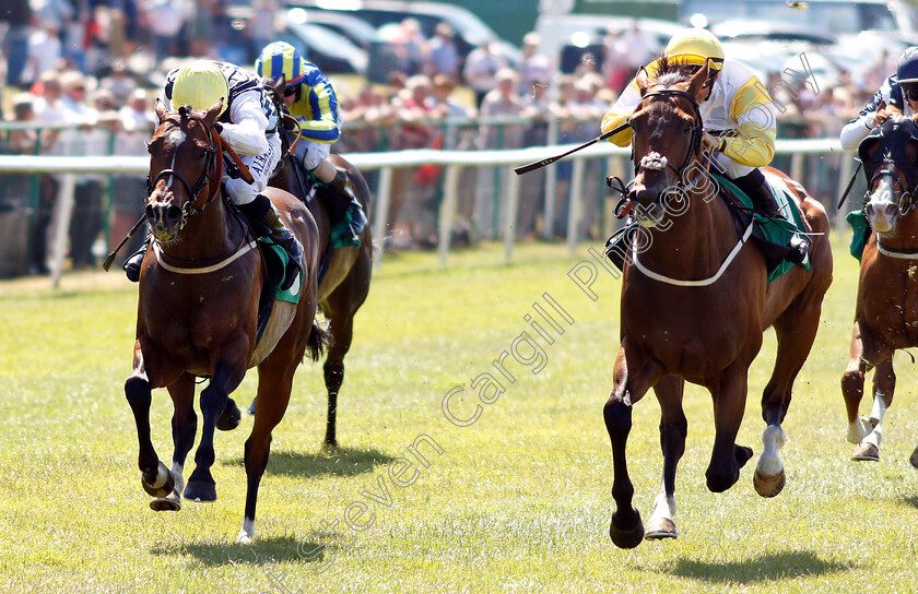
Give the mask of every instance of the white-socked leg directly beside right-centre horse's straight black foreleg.
POLYGON ((660 403, 660 448, 663 450, 663 478, 654 499, 654 513, 644 530, 645 538, 675 538, 675 467, 685 453, 688 421, 682 411, 684 380, 663 378, 654 391, 660 403))

